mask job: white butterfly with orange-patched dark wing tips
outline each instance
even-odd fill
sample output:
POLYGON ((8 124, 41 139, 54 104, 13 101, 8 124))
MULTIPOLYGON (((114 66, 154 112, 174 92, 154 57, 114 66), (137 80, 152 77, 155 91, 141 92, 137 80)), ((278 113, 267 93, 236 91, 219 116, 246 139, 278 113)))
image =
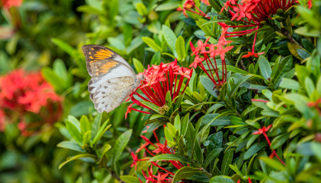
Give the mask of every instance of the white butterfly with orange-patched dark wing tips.
POLYGON ((113 50, 100 45, 84 45, 90 99, 98 112, 118 107, 140 84, 143 75, 135 74, 126 60, 113 50))

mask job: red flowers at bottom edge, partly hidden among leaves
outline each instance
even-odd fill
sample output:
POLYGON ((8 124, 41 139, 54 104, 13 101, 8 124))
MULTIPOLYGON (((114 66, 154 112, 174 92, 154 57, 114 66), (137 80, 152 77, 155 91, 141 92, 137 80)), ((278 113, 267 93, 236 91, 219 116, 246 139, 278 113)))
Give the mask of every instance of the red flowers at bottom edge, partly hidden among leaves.
MULTIPOLYGON (((164 125, 165 127, 165 125, 164 125)), ((148 128, 148 127, 147 127, 148 128)), ((156 129, 155 129, 156 130, 156 129)), ((133 152, 132 152, 132 157, 133 157, 133 163, 131 165, 131 167, 134 167, 135 166, 135 170, 137 169, 136 165, 137 165, 137 162, 138 161, 146 161, 148 160, 149 158, 146 157, 146 152, 149 153, 151 156, 155 156, 157 154, 174 154, 175 151, 173 151, 171 148, 169 148, 167 146, 167 141, 165 140, 164 144, 161 144, 156 133, 155 133, 155 130, 153 130, 153 134, 154 134, 154 137, 157 141, 156 144, 152 143, 147 137, 141 135, 141 137, 143 138, 144 141, 146 141, 146 143, 142 144, 142 146, 140 148, 138 148, 136 150, 135 153, 138 153, 140 152, 141 150, 145 149, 145 153, 144 153, 144 158, 143 159, 138 159, 137 158, 137 155, 135 155, 133 152), (153 146, 154 148, 156 148, 155 150, 152 150, 150 151, 147 146, 148 145, 151 145, 153 146)), ((147 130, 143 131, 143 132, 146 132, 147 130)), ((158 162, 158 161, 157 161, 158 162)), ((147 174, 142 170, 142 173, 143 173, 143 176, 144 178, 146 179, 146 182, 145 183, 149 183, 149 182, 154 182, 154 183, 170 183, 175 175, 175 173, 161 167, 160 165, 157 164, 157 162, 151 162, 152 165, 151 165, 151 168, 148 170, 147 174), (166 172, 160 172, 160 171, 157 171, 157 175, 153 175, 153 171, 152 171, 152 167, 153 166, 156 166, 158 167, 160 170, 166 172)), ((167 161, 166 161, 167 162, 167 161)), ((175 168, 177 168, 178 170, 181 169, 182 167, 184 167, 184 165, 179 162, 179 161, 174 161, 174 160, 170 160, 168 161, 170 162, 175 168)), ((189 164, 187 164, 187 166, 189 166, 189 164)), ((143 183, 141 179, 139 179, 140 183, 143 183)))

